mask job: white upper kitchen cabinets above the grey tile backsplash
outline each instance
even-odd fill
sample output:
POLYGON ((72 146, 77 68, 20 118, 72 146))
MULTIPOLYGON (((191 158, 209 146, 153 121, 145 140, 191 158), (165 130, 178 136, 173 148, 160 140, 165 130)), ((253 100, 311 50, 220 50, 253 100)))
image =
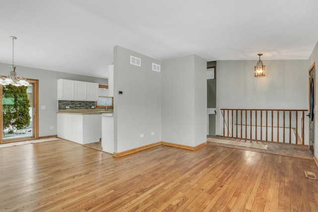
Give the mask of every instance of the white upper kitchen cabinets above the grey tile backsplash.
POLYGON ((58 79, 58 100, 97 101, 98 83, 58 79))

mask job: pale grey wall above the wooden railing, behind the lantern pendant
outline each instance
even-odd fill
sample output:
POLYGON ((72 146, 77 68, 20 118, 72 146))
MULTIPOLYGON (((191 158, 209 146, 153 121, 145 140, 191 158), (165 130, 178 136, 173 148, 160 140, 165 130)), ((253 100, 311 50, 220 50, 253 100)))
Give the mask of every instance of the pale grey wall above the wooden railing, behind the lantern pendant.
POLYGON ((217 135, 220 109, 308 109, 308 60, 263 61, 265 77, 254 77, 256 62, 217 61, 217 135))

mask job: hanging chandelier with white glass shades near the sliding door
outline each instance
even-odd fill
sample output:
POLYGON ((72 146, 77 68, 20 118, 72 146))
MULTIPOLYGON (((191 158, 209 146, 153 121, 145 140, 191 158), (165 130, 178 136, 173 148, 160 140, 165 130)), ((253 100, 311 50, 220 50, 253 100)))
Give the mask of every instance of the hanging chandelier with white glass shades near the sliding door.
POLYGON ((10 66, 10 74, 4 78, 2 76, 0 76, 0 84, 2 85, 14 85, 14 86, 28 86, 29 82, 26 80, 26 78, 22 77, 17 77, 16 76, 16 72, 15 72, 15 66, 14 66, 14 40, 16 39, 16 37, 14 36, 10 36, 10 38, 12 39, 12 65, 10 66))

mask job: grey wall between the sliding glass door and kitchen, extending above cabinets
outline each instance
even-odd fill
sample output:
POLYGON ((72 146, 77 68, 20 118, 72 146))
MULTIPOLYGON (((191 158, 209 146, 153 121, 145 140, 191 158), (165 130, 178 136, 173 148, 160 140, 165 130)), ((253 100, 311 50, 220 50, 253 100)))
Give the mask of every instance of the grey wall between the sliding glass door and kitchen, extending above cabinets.
MULTIPOLYGON (((10 72, 9 64, 0 63, 0 75, 8 75, 10 72)), ((48 71, 30 67, 16 66, 18 77, 26 77, 39 80, 39 136, 57 135, 57 85, 58 79, 73 79, 79 81, 96 82, 107 85, 108 79, 84 76, 59 71, 48 71), (41 109, 45 105, 46 109, 41 109), (54 127, 54 129, 50 129, 54 127)))

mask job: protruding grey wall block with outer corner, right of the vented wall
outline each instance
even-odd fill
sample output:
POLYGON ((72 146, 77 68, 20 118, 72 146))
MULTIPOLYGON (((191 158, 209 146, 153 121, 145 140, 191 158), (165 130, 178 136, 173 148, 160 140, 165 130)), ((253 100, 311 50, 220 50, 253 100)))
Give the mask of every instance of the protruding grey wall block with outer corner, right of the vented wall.
POLYGON ((206 141, 206 61, 195 55, 162 61, 162 141, 196 146, 206 141))

